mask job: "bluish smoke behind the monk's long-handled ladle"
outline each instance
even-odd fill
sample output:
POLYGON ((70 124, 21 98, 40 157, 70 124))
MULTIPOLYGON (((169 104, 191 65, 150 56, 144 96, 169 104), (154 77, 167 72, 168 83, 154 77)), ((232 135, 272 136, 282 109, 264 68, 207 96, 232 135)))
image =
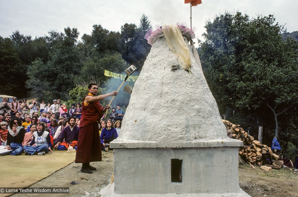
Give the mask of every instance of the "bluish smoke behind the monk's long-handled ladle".
MULTIPOLYGON (((123 75, 126 76, 126 73, 121 73, 123 75)), ((134 73, 131 76, 139 76, 139 71, 136 70, 134 71, 134 73)), ((105 92, 103 92, 103 94, 105 93, 110 93, 112 91, 117 91, 117 89, 119 88, 119 86, 122 84, 123 80, 121 79, 115 79, 113 77, 111 77, 111 79, 109 79, 106 84, 105 84, 105 88, 107 89, 105 92)), ((132 80, 128 81, 128 79, 124 82, 124 84, 122 85, 122 87, 119 89, 117 96, 114 98, 114 100, 111 103, 111 106, 125 106, 127 107, 129 104, 129 99, 131 94, 124 92, 124 86, 126 84, 130 85, 131 87, 134 87, 134 83, 132 80)), ((107 102, 107 104, 111 101, 112 97, 108 97, 105 99, 105 101, 107 102)))

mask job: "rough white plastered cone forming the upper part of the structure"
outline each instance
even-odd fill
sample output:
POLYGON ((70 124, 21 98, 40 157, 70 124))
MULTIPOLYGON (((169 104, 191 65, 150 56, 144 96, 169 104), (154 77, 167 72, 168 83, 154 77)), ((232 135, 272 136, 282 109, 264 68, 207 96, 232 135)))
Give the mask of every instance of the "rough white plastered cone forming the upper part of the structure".
POLYGON ((153 44, 134 85, 121 139, 186 147, 228 138, 204 74, 191 57, 192 74, 180 68, 164 37, 153 44))

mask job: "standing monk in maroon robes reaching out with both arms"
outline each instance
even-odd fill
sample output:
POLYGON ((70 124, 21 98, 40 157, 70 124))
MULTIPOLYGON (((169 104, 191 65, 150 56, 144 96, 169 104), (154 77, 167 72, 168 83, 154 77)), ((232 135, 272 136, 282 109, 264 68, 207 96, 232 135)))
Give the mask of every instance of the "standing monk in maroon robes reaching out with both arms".
POLYGON ((99 137, 98 123, 109 105, 102 107, 99 100, 109 96, 116 96, 117 92, 95 96, 98 87, 92 83, 88 86, 89 94, 82 100, 82 116, 80 119, 80 133, 77 142, 76 163, 82 163, 81 172, 91 174, 96 168, 90 165, 90 162, 101 161, 101 145, 99 137))

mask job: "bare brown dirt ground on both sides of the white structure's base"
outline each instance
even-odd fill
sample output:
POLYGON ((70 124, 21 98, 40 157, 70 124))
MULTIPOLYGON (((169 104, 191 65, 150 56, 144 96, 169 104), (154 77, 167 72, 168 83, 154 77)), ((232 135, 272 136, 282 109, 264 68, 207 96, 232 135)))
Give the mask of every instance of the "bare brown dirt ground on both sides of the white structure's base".
MULTIPOLYGON (((93 162, 97 168, 93 174, 80 172, 81 164, 71 163, 31 187, 69 187, 69 194, 51 194, 51 196, 100 196, 100 189, 107 186, 114 170, 113 152, 102 152, 103 161, 93 162), (70 183, 78 182, 71 185, 70 183)), ((259 167, 239 166, 239 185, 250 196, 298 197, 298 173, 290 170, 267 172, 259 167)), ((41 194, 14 194, 16 196, 41 196, 41 194)), ((46 195, 45 195, 46 196, 46 195)))

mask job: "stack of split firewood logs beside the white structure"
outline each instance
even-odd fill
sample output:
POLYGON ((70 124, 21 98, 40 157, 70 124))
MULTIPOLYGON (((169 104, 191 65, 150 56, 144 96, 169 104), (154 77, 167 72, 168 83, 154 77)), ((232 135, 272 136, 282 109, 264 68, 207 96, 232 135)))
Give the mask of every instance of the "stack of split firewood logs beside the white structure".
MULTIPOLYGON (((243 141, 242 147, 239 148, 239 156, 247 163, 263 165, 263 154, 269 153, 273 161, 277 161, 279 156, 274 154, 270 147, 261 144, 259 141, 254 140, 254 137, 248 135, 240 125, 235 125, 230 121, 223 120, 227 129, 232 132, 232 138, 243 141)), ((273 162, 272 161, 272 162, 273 162)))

